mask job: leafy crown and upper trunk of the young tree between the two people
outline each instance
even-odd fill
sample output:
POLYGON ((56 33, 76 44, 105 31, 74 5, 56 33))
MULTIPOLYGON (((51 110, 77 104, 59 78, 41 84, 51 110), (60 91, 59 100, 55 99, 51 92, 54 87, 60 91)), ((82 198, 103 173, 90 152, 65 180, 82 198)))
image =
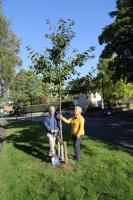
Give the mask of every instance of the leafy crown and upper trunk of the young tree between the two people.
MULTIPOLYGON (((51 47, 45 48, 43 54, 34 53, 31 48, 30 51, 32 59, 32 68, 37 74, 43 76, 43 81, 53 85, 52 93, 60 96, 60 112, 61 112, 61 96, 63 95, 63 87, 65 81, 75 75, 76 66, 82 66, 88 59, 93 58, 90 53, 94 47, 90 47, 83 53, 74 50, 72 53, 74 57, 68 56, 68 49, 71 40, 75 37, 73 31, 74 22, 70 19, 60 19, 57 27, 52 27, 49 20, 46 21, 49 26, 50 33, 45 34, 45 38, 51 41, 51 47)), ((70 51, 70 49, 69 49, 70 51)))

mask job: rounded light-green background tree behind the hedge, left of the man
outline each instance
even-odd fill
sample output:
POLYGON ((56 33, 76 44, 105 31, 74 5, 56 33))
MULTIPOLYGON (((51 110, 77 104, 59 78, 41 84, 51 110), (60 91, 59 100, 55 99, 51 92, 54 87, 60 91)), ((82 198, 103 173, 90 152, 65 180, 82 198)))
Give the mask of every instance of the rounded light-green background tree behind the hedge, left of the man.
POLYGON ((46 89, 41 79, 32 71, 20 70, 16 74, 11 87, 11 99, 15 104, 28 105, 38 103, 40 98, 45 98, 46 89))

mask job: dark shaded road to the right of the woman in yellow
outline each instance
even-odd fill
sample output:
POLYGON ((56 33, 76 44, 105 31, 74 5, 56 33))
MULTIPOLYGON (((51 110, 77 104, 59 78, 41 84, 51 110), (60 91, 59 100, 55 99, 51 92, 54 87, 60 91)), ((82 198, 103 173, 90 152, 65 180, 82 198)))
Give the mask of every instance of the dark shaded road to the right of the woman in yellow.
POLYGON ((117 116, 86 118, 86 132, 93 138, 133 152, 133 118, 117 116))

